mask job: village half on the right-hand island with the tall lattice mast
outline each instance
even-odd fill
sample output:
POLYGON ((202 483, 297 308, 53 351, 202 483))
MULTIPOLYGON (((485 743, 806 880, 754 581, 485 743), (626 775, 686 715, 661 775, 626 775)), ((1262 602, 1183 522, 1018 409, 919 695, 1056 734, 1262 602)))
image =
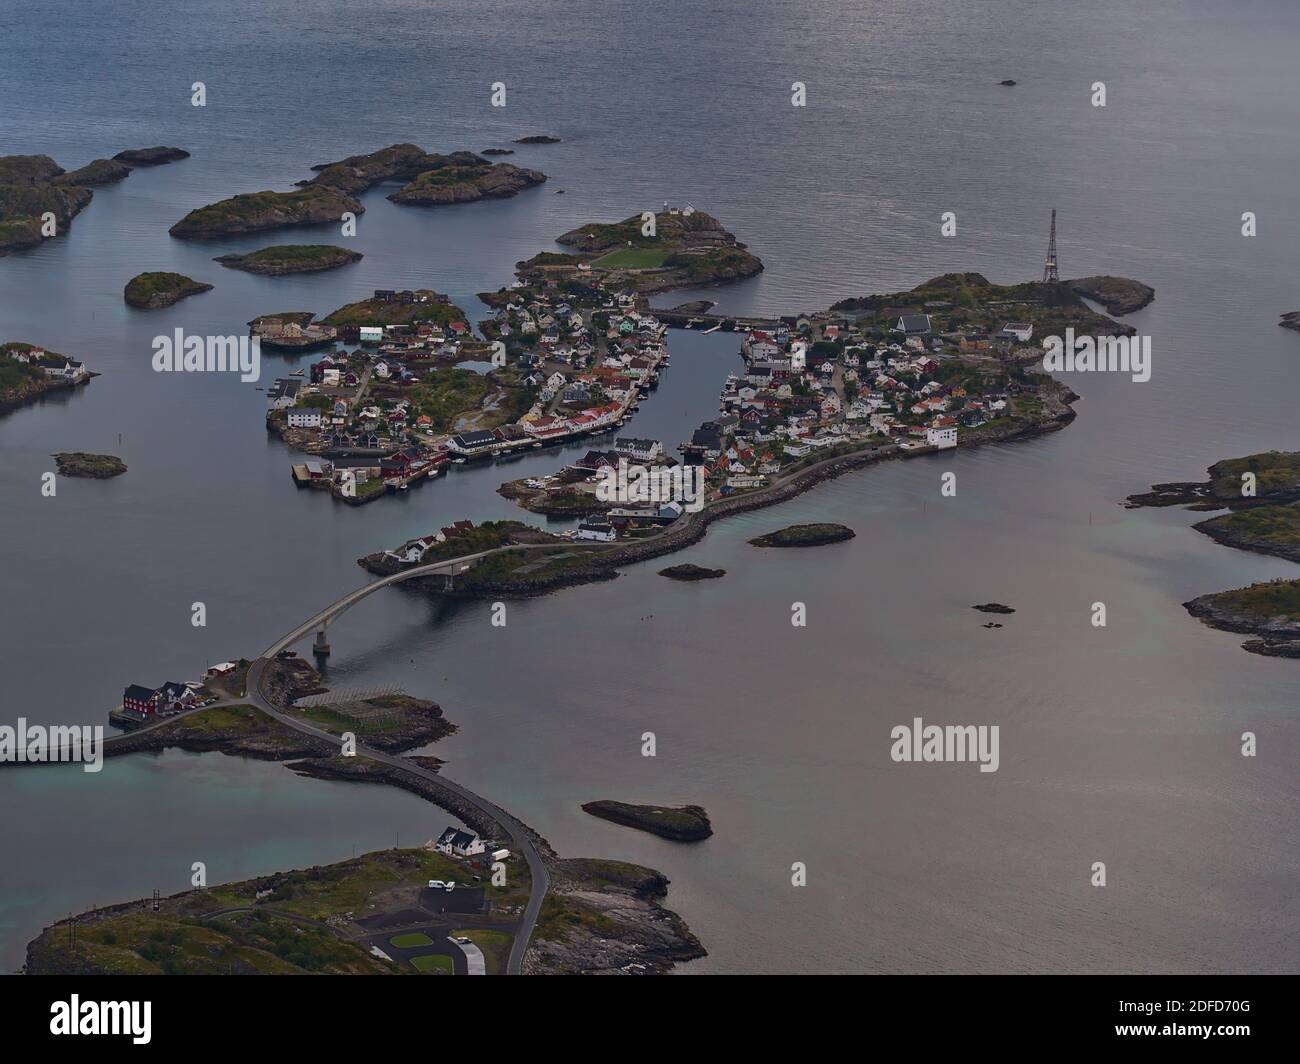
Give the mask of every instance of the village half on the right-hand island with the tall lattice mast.
MULTIPOLYGON (((664 315, 682 328, 744 330, 744 364, 723 384, 719 415, 688 440, 618 437, 551 476, 500 492, 537 514, 585 516, 580 539, 612 540, 668 524, 688 505, 762 490, 826 458, 864 449, 932 454, 1067 418, 1067 389, 1030 371, 1041 359, 1034 317, 1060 308, 1009 300, 1028 319, 1011 320, 1001 306, 976 303, 983 315, 971 320, 954 310, 958 300, 971 306, 972 280, 988 285, 978 274, 935 278, 922 286, 927 295, 949 286, 953 298, 919 306, 902 294, 897 304, 767 321, 664 315), (644 471, 646 490, 602 498, 619 470, 624 480, 629 470, 644 471), (699 497, 685 498, 694 485, 699 497)), ((1074 311, 1092 313, 1082 304, 1074 311)))

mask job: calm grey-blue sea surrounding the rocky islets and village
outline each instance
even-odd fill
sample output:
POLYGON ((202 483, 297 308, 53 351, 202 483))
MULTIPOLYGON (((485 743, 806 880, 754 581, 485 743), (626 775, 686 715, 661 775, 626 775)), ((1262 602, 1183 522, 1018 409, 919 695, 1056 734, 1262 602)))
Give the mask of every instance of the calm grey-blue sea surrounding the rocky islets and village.
MULTIPOLYGON (((259 313, 325 313, 373 287, 474 293, 582 221, 664 200, 716 215, 758 278, 702 293, 797 312, 945 271, 1036 277, 1058 209, 1063 276, 1153 285, 1130 320, 1147 384, 1071 380, 1062 433, 846 476, 714 525, 682 585, 620 579, 511 604, 393 591, 332 630, 343 687, 400 683, 462 731, 447 774, 562 853, 641 861, 710 957, 688 972, 1295 970, 1300 665, 1190 619, 1191 596, 1296 566, 1218 546, 1178 510, 1126 511, 1153 481, 1300 449, 1296 144, 1300 10, 1288 0, 1043 4, 133 3, 0 7, 0 153, 72 169, 126 147, 192 157, 95 193, 69 237, 0 260, 0 339, 103 372, 0 418, 4 719, 101 722, 131 682, 255 654, 365 578, 355 559, 459 518, 521 511, 506 479, 551 451, 456 468, 408 498, 348 509, 295 492, 237 380, 156 375, 176 328, 239 333, 259 313), (997 82, 1014 77, 1015 88, 997 82), (190 105, 207 86, 208 105, 190 105), (508 105, 489 105, 490 85, 508 105), (790 85, 807 85, 806 108, 790 85), (1089 103, 1092 83, 1108 107, 1089 103), (482 150, 550 174, 499 203, 364 198, 363 261, 263 278, 181 243, 186 211, 289 189, 309 166, 399 140, 482 150), (564 195, 555 195, 558 189, 564 195), (940 215, 958 217, 940 237, 940 215), (1253 211, 1258 235, 1240 235, 1253 211), (142 271, 216 285, 151 313, 142 271), (120 454, 110 481, 40 496, 51 453, 120 454), (944 471, 958 475, 941 499, 944 471), (800 520, 858 537, 762 557, 800 520), (984 630, 968 609, 1017 613, 984 630), (188 623, 207 604, 207 628, 188 623), (806 628, 789 623, 805 602, 806 628), (1104 601, 1109 626, 1088 623, 1104 601), (896 765, 922 717, 1001 728, 1001 769, 896 765), (1260 756, 1239 754, 1243 731, 1260 756), (656 758, 640 756, 654 731, 656 758), (682 847, 586 817, 598 797, 699 803, 682 847), (807 865, 806 887, 790 865, 807 865), (1089 886, 1104 861, 1109 886, 1089 886)), ((306 239, 339 242, 325 228, 306 239)), ((287 234, 296 239, 296 234, 287 234)), ((670 302, 690 298, 673 297, 670 302)), ((632 424, 676 445, 716 408, 736 338, 671 334, 672 368, 632 424)), ((300 363, 306 364, 306 362, 300 363)), ((289 368, 268 358, 266 380, 289 368)), ((447 818, 411 795, 295 778, 218 754, 130 757, 99 775, 0 773, 0 964, 91 904, 416 842, 447 818)))

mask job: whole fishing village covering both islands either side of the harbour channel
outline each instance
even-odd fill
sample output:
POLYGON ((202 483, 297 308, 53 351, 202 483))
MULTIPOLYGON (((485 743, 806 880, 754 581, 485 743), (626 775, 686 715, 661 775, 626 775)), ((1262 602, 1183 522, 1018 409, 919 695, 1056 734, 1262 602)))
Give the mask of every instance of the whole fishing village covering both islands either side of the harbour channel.
POLYGON ((311 315, 256 319, 264 343, 332 349, 268 390, 268 428, 311 455, 292 466, 294 481, 359 505, 437 477, 448 463, 608 434, 551 476, 502 486, 533 512, 592 515, 576 535, 606 539, 611 524, 614 535, 659 525, 679 514, 656 507, 697 501, 681 490, 599 498, 602 471, 620 463, 679 486, 702 477, 706 498, 718 498, 832 454, 931 453, 1066 416, 1066 389, 1030 368, 1041 360, 1043 336, 1069 325, 1124 333, 1080 297, 1135 298, 1115 289, 1122 278, 1004 286, 963 273, 814 315, 655 310, 653 293, 748 276, 760 263, 692 207, 658 215, 650 238, 634 222, 558 238, 592 254, 520 263, 508 287, 480 295, 493 310, 482 338, 428 290, 376 290, 318 324, 311 315), (615 436, 670 366, 670 328, 737 334, 742 367, 723 385, 719 415, 689 440, 615 436), (611 512, 612 522, 599 518, 611 512))

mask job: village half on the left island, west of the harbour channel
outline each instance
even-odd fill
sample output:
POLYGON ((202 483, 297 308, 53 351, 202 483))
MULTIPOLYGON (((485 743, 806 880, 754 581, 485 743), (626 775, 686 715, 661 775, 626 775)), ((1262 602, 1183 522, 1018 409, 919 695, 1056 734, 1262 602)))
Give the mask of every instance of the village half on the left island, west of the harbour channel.
MULTIPOLYGON (((488 341, 474 338, 463 317, 350 325, 337 330, 342 350, 302 377, 274 381, 268 427, 313 455, 294 464, 295 483, 363 503, 438 476, 448 462, 623 425, 668 366, 667 326, 634 293, 611 293, 597 278, 538 290, 519 282, 515 291, 482 324, 488 341), (346 350, 348 343, 356 346, 346 350)), ((368 302, 428 299, 443 298, 378 290, 368 302)), ((283 319, 259 319, 255 328, 263 342, 306 337, 300 323, 283 319)), ((333 339, 318 333, 304 342, 333 339)))

